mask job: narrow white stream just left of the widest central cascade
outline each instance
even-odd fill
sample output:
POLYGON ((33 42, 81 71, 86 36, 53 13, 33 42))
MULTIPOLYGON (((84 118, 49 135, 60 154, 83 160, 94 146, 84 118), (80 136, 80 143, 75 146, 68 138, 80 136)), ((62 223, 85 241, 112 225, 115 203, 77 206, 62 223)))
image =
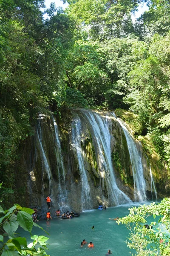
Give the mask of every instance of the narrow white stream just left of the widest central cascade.
POLYGON ((82 184, 82 195, 81 195, 82 210, 85 210, 85 209, 90 209, 90 206, 91 206, 91 189, 88 184, 88 178, 85 170, 85 160, 84 160, 84 155, 81 148, 82 125, 79 117, 73 120, 71 127, 72 127, 71 147, 76 153, 76 157, 78 161, 79 174, 80 174, 81 184, 82 184))

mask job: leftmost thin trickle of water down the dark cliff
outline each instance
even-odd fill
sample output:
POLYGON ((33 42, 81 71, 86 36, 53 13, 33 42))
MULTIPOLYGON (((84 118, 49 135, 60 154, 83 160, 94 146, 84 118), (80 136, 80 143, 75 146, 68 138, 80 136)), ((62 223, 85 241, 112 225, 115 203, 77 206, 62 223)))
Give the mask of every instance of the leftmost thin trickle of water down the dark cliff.
POLYGON ((38 138, 38 141, 40 144, 42 167, 43 167, 43 170, 47 174, 49 194, 52 195, 52 173, 51 173, 51 169, 48 165, 47 157, 45 156, 44 148, 42 146, 41 119, 43 119, 43 115, 39 114, 38 118, 39 118, 39 124, 38 124, 38 129, 37 129, 37 138, 38 138))

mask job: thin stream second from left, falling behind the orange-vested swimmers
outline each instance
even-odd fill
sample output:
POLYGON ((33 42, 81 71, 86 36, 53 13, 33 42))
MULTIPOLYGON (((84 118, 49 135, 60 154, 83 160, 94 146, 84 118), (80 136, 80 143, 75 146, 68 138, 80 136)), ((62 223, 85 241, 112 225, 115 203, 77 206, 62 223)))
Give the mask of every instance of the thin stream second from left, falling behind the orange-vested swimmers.
POLYGON ((61 212, 66 212, 70 207, 67 205, 67 198, 68 198, 68 193, 67 190, 65 189, 65 167, 63 163, 63 158, 62 158, 62 151, 61 151, 61 143, 59 140, 59 131, 58 131, 58 126, 57 123, 54 119, 54 116, 51 115, 51 118, 53 120, 53 125, 54 125, 54 132, 55 132, 55 153, 56 153, 56 158, 57 158, 57 172, 58 172, 58 198, 57 202, 59 205, 59 209, 61 212), (64 183, 64 189, 61 187, 61 175, 62 173, 62 180, 64 183))

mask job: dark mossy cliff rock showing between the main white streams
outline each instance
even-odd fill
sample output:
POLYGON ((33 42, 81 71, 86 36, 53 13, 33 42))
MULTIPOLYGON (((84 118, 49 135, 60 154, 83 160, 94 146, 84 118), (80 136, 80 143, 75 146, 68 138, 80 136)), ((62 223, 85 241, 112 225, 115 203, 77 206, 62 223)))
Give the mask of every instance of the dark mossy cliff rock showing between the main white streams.
MULTIPOLYGON (((91 111, 91 110, 89 110, 91 111)), ((125 134, 121 125, 107 111, 93 111, 100 116, 109 119, 109 129, 111 134, 111 159, 114 169, 116 184, 122 192, 134 200, 133 173, 131 169, 130 155, 127 147, 125 134)), ((99 147, 100 143, 95 137, 93 125, 81 109, 71 113, 67 126, 61 121, 57 122, 57 136, 60 142, 56 143, 56 131, 54 119, 51 115, 41 115, 37 119, 37 126, 34 128, 35 134, 21 145, 20 160, 16 166, 16 186, 17 201, 27 207, 37 206, 42 217, 47 210, 46 196, 49 190, 49 172, 51 174, 51 212, 59 207, 69 207, 76 211, 82 210, 82 180, 80 173, 79 160, 76 151, 73 149, 72 121, 79 117, 81 120, 81 151, 83 165, 91 190, 91 209, 101 203, 107 206, 113 205, 109 197, 107 179, 101 176, 103 170, 99 166, 99 147), (67 127, 67 128, 65 128, 67 127), (62 163, 61 163, 62 161, 62 163), (62 199, 61 199, 61 194, 62 199)), ((101 131, 102 133, 102 131, 101 131)), ((153 171, 153 177, 158 189, 162 190, 158 180, 161 177, 158 165, 153 154, 148 154, 146 138, 139 138, 142 144, 136 141, 139 154, 142 157, 144 177, 146 180, 148 196, 151 195, 149 164, 153 171), (145 147, 144 147, 145 145, 145 147), (143 149, 142 149, 143 148, 143 149), (148 158, 147 158, 148 157, 148 158), (149 159, 149 160, 148 160, 149 159)), ((101 152, 100 152, 101 154, 101 152)), ((104 155, 105 152, 102 151, 104 155)), ((105 157, 105 156, 104 156, 105 157)), ((159 161, 157 159, 157 161, 159 161)))

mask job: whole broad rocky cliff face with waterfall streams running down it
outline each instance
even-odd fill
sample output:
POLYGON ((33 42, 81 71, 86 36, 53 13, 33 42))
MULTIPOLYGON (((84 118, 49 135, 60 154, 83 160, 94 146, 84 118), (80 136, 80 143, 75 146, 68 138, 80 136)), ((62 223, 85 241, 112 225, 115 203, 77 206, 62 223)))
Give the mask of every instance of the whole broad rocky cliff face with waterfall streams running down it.
MULTIPOLYGON (((125 132, 113 113, 77 109, 70 120, 64 129, 55 117, 39 116, 16 166, 18 203, 37 206, 45 217, 48 194, 52 214, 56 209, 80 212, 139 200, 136 185, 134 191, 134 183, 140 182, 134 177, 138 169, 134 171, 125 132)), ((149 162, 141 145, 134 143, 143 168, 142 186, 150 196, 149 162)))

